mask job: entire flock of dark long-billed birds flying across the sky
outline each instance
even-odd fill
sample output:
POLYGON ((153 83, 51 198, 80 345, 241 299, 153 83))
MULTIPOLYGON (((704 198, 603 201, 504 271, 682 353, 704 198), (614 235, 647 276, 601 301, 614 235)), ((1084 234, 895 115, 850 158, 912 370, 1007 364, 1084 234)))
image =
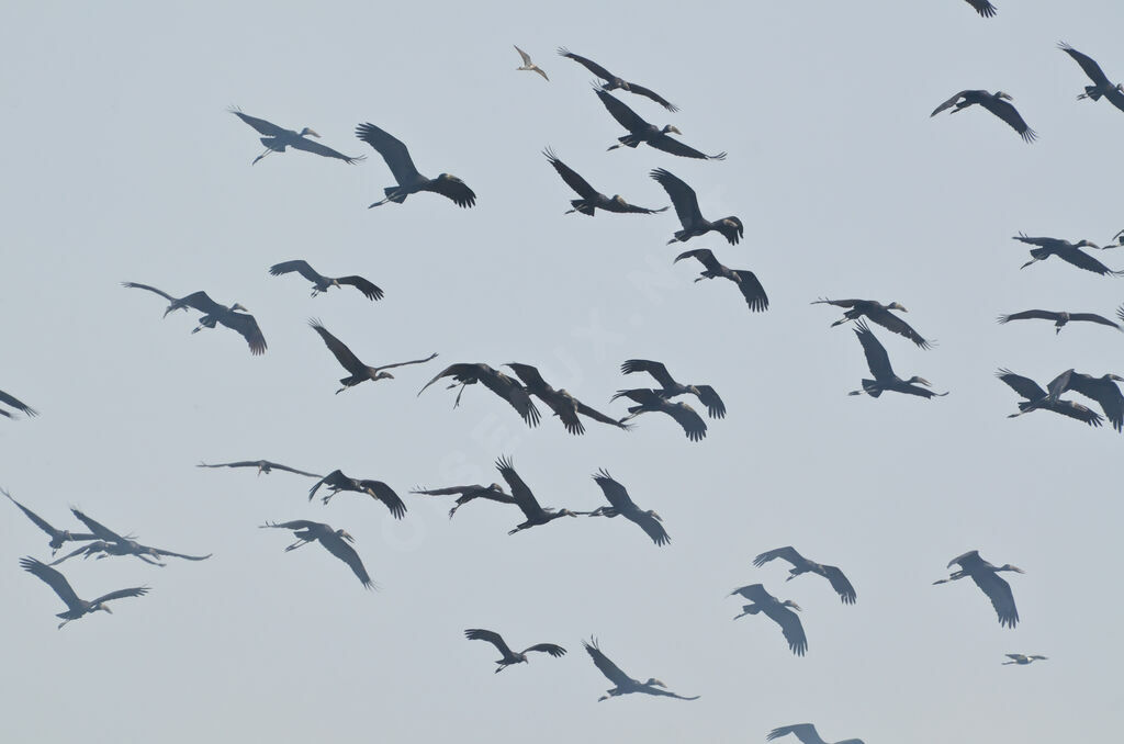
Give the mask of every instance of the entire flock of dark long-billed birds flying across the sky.
MULTIPOLYGON (((967 1, 984 17, 989 18, 996 13, 995 7, 990 2, 987 2, 987 0, 967 1)), ((1060 45, 1060 48, 1081 66, 1093 82, 1091 85, 1086 87, 1085 93, 1079 98, 1093 101, 1105 98, 1113 106, 1124 111, 1124 87, 1112 84, 1100 71, 1097 63, 1085 54, 1066 44, 1060 45)), ((542 75, 544 80, 550 80, 547 73, 536 65, 527 53, 518 47, 516 47, 516 51, 523 61, 518 70, 534 72, 542 75)), ((667 111, 678 111, 676 106, 651 89, 626 81, 610 73, 592 60, 573 54, 565 48, 560 48, 559 54, 582 65, 604 81, 595 89, 595 93, 609 115, 627 130, 627 134, 618 137, 617 144, 609 147, 609 149, 622 146, 637 147, 641 143, 646 143, 654 149, 679 157, 707 161, 722 161, 726 157, 725 153, 708 155, 685 145, 681 140, 671 136, 680 134, 679 129, 674 126, 658 127, 650 124, 624 101, 611 94, 614 91, 632 93, 650 99, 650 101, 659 105, 667 111)), ((981 90, 964 90, 939 106, 933 111, 933 115, 935 116, 948 109, 957 112, 972 105, 979 105, 1010 125, 1026 142, 1033 142, 1036 133, 1026 125, 1022 116, 1010 103, 1010 97, 1001 91, 989 93, 981 90)), ((262 135, 261 143, 265 146, 265 149, 254 158, 253 163, 257 163, 271 154, 283 153, 290 147, 324 157, 341 160, 347 164, 355 164, 364 160, 362 155, 347 156, 315 142, 311 138, 318 138, 319 135, 309 128, 301 129, 300 131, 284 129, 265 119, 248 116, 238 109, 230 109, 230 111, 262 135)), ((355 129, 355 136, 379 153, 386 161, 396 182, 393 185, 387 187, 383 190, 383 198, 372 203, 371 207, 378 207, 387 202, 401 203, 410 194, 420 192, 441 194, 462 208, 470 208, 475 203, 475 192, 457 176, 448 173, 441 173, 436 178, 423 175, 414 165, 406 145, 378 126, 370 123, 360 124, 355 129)), ((605 212, 615 214, 655 215, 669 209, 667 206, 659 208, 638 207, 629 203, 620 196, 608 197, 590 185, 577 171, 562 162, 552 149, 546 148, 544 155, 550 166, 554 169, 562 181, 579 197, 570 201, 572 208, 566 214, 579 212, 592 217, 600 209, 605 212)), ((744 233, 743 223, 738 217, 729 216, 717 220, 709 220, 703 217, 695 190, 682 179, 664 167, 652 170, 651 176, 668 193, 681 226, 681 229, 674 232, 669 244, 686 243, 694 238, 703 237, 708 233, 717 233, 731 245, 737 245, 744 233)), ((1024 264, 1023 267, 1045 261, 1051 256, 1057 256, 1072 266, 1102 276, 1118 276, 1124 274, 1122 271, 1108 269, 1100 261, 1082 251, 1082 248, 1105 249, 1124 245, 1124 230, 1113 237, 1113 241, 1116 242, 1115 244, 1109 243, 1105 246, 1099 246, 1089 241, 1070 243, 1052 237, 1028 237, 1023 234, 1015 236, 1014 239, 1033 246, 1030 251, 1031 261, 1024 264)), ((696 258, 704 266, 701 275, 695 281, 718 278, 729 280, 737 285, 750 310, 764 311, 769 308, 769 298, 765 294, 764 288, 752 271, 728 269, 719 263, 714 253, 707 248, 697 248, 680 253, 676 256, 674 262, 686 258, 696 258)), ((303 260, 277 263, 269 267, 269 273, 273 276, 283 276, 292 273, 299 274, 311 283, 312 297, 328 292, 333 288, 343 289, 345 287, 354 288, 371 301, 378 301, 384 297, 381 288, 363 276, 327 276, 318 273, 303 260)), ((148 284, 125 282, 124 287, 145 290, 163 298, 167 302, 164 309, 165 317, 175 310, 193 310, 200 314, 197 326, 191 333, 197 333, 203 328, 223 326, 242 335, 246 339, 252 354, 260 355, 266 352, 268 345, 257 320, 245 307, 237 302, 226 306, 215 301, 203 291, 196 291, 184 297, 173 297, 148 284)), ((899 392, 926 399, 948 394, 946 392, 934 392, 932 389, 933 385, 921 376, 900 378, 890 364, 886 347, 874 335, 871 328, 872 325, 912 342, 919 350, 930 350, 933 346, 931 339, 922 336, 899 315, 896 315, 896 312, 906 311, 903 305, 899 302, 883 305, 879 301, 868 299, 818 299, 814 303, 830 305, 843 310, 843 317, 835 320, 832 326, 850 321, 855 324, 854 332, 862 346, 872 379, 863 379, 861 388, 850 394, 858 396, 865 393, 878 398, 883 392, 899 392)), ((1124 332, 1124 325, 1122 325, 1124 324, 1124 306, 1116 310, 1116 317, 1120 323, 1094 312, 1031 309, 1000 316, 998 321, 1006 324, 1014 320, 1050 320, 1054 324, 1055 333, 1060 333, 1062 327, 1069 323, 1081 321, 1108 326, 1118 332, 1124 332)), ((336 390, 336 393, 348 390, 365 381, 391 380, 395 375, 388 370, 426 364, 437 356, 434 353, 411 361, 372 366, 361 361, 344 342, 328 332, 319 320, 310 320, 309 325, 319 335, 339 365, 347 372, 347 375, 339 380, 342 387, 336 390)), ((629 401, 631 405, 627 407, 627 415, 625 416, 608 415, 592 408, 564 389, 555 389, 531 364, 510 362, 501 366, 509 370, 514 376, 500 369, 481 362, 451 364, 426 382, 418 391, 418 394, 438 381, 448 382, 450 389, 457 389, 454 400, 455 408, 460 403, 464 389, 468 385, 479 383, 514 408, 528 427, 535 427, 542 421, 542 414, 536 406, 536 401, 538 401, 545 405, 553 416, 558 417, 565 430, 572 435, 583 434, 586 423, 589 420, 622 430, 628 430, 634 425, 633 419, 642 414, 661 412, 674 420, 689 441, 700 442, 707 436, 707 421, 690 405, 677 400, 682 397, 694 397, 697 399, 699 405, 706 409, 707 418, 711 420, 723 419, 726 416, 726 406, 713 387, 708 384, 683 384, 659 361, 631 359, 620 365, 620 372, 624 375, 647 375, 650 378, 650 387, 622 389, 609 399, 608 402, 610 403, 622 398, 629 401)), ((1012 414, 1012 417, 1035 410, 1049 410, 1076 418, 1090 426, 1100 426, 1104 419, 1107 418, 1117 432, 1124 430, 1124 396, 1122 396, 1116 384, 1117 382, 1124 382, 1124 378, 1115 374, 1094 376, 1070 369, 1059 374, 1045 389, 1030 378, 1018 375, 1005 369, 998 372, 998 378, 1022 398, 1017 403, 1017 412, 1012 414), (1073 400, 1063 399, 1062 396, 1067 392, 1075 392, 1096 401, 1104 416, 1073 400)), ((15 417, 16 411, 27 416, 37 415, 35 409, 3 391, 0 391, 0 403, 12 409, 6 410, 0 407, 0 415, 8 418, 15 417)), ((387 507, 395 519, 402 519, 407 515, 406 501, 404 501, 391 486, 379 480, 353 478, 344 474, 341 470, 333 470, 328 474, 321 475, 266 460, 214 464, 201 463, 200 466, 250 468, 255 469, 259 474, 268 474, 272 471, 288 472, 315 479, 315 483, 308 492, 309 501, 316 497, 321 488, 324 489, 321 500, 325 505, 341 491, 348 491, 380 501, 387 507)), ((410 491, 410 493, 429 497, 455 497, 448 512, 450 518, 455 515, 457 509, 472 501, 490 501, 492 503, 505 505, 502 508, 508 510, 510 510, 510 506, 514 506, 522 512, 524 519, 514 525, 509 532, 511 535, 533 527, 547 525, 563 517, 613 518, 622 516, 640 527, 654 545, 667 546, 671 542, 671 537, 664 528, 660 515, 653 510, 644 510, 637 506, 627 488, 622 482, 615 480, 604 469, 595 473, 592 479, 601 490, 607 505, 586 511, 542 506, 527 482, 516 472, 510 457, 499 457, 496 462, 496 469, 506 487, 500 483, 491 483, 489 486, 456 484, 432 489, 417 488, 410 491)), ((28 519, 49 536, 48 546, 52 550, 52 555, 62 550, 67 543, 79 544, 76 550, 66 553, 51 563, 44 563, 30 556, 24 557, 19 562, 21 568, 47 583, 66 605, 66 610, 57 615, 63 620, 58 626, 60 628, 72 620, 99 610, 109 613, 108 604, 110 601, 142 597, 149 591, 149 588, 146 586, 132 587, 111 591, 91 600, 81 599, 66 578, 54 568, 71 557, 79 555, 84 559, 91 556, 98 559, 134 556, 145 563, 155 565, 164 565, 162 559, 166 557, 179 557, 189 561, 202 561, 210 557, 210 555, 188 555, 143 545, 136 541, 135 536, 116 533, 78 509, 72 509, 72 514, 83 525, 82 530, 71 532, 70 529, 58 529, 31 511, 27 506, 17 501, 7 491, 3 491, 3 493, 28 519)), ((353 546, 354 538, 346 530, 336 529, 327 524, 307 519, 268 521, 261 525, 261 527, 291 530, 297 539, 285 547, 285 551, 293 551, 310 543, 319 543, 321 547, 345 563, 363 587, 372 588, 375 586, 362 559, 353 546)), ((788 575, 789 580, 806 573, 816 574, 830 583, 843 605, 854 605, 856 602, 858 595, 854 587, 837 566, 810 561, 791 546, 761 553, 754 559, 753 563, 755 566, 761 568, 774 560, 781 560, 791 566, 788 575)), ((1022 573, 1019 569, 1010 564, 996 566, 984 560, 978 551, 970 551, 953 559, 949 563, 949 568, 953 565, 959 568, 949 578, 934 583, 955 582, 969 578, 990 600, 1001 626, 1014 628, 1017 625, 1018 611, 1010 584, 1000 578, 999 574, 1004 572, 1022 573)), ((800 615, 798 614, 800 608, 796 602, 777 598, 762 583, 740 587, 734 589, 731 596, 741 597, 747 602, 743 605, 741 614, 735 619, 746 615, 763 615, 779 626, 781 635, 795 655, 803 656, 807 653, 808 638, 800 615)), ((543 653, 551 657, 561 657, 566 653, 564 647, 554 643, 538 643, 516 652, 508 646, 500 634, 483 628, 469 628, 464 632, 464 635, 468 639, 490 643, 498 650, 501 657, 496 661, 496 672, 504 671, 514 664, 526 663, 528 654, 532 652, 543 653)), ((686 697, 671 692, 663 682, 654 678, 641 682, 629 677, 601 652, 595 638, 583 642, 583 647, 597 669, 614 684, 600 698, 601 700, 628 693, 645 693, 682 700, 694 700, 697 697, 686 697)), ((1036 654, 1007 654, 1007 656, 1010 661, 1004 662, 1005 664, 1018 665, 1045 659, 1045 656, 1036 654)), ((771 741, 787 734, 795 735, 806 744, 823 743, 815 727, 810 724, 776 728, 768 735, 768 738, 771 741)), ((846 740, 840 744, 847 743, 861 744, 860 740, 846 740)))

